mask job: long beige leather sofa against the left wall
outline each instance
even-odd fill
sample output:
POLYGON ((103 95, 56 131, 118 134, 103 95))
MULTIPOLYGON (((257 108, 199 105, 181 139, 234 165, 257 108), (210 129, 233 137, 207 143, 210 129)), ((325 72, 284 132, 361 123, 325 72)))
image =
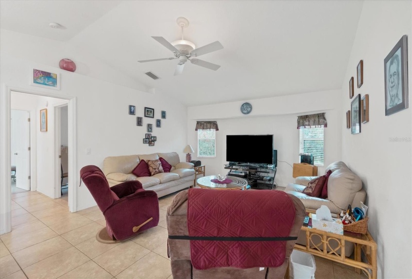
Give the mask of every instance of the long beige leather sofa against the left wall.
POLYGON ((110 187, 124 181, 138 180, 145 190, 155 191, 158 197, 193 186, 195 179, 193 167, 192 163, 181 162, 176 152, 112 156, 106 157, 103 161, 103 173, 110 187), (140 160, 157 160, 159 157, 172 165, 170 172, 144 177, 137 177, 131 173, 140 160))

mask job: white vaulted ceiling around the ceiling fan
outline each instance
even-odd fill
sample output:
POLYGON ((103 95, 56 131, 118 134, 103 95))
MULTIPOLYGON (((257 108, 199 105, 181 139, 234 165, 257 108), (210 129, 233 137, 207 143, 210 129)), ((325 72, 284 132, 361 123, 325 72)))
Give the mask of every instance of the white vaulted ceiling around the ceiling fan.
POLYGON ((1 1, 1 28, 67 40, 188 106, 341 88, 363 6, 324 0, 47 3, 1 1), (185 38, 197 47, 223 44, 224 49, 200 57, 221 65, 219 70, 188 63, 181 76, 173 76, 177 60, 137 62, 172 56, 151 36, 180 39, 179 16, 189 19, 185 38), (67 29, 56 34, 49 21, 67 29), (161 79, 150 79, 146 71, 161 79))

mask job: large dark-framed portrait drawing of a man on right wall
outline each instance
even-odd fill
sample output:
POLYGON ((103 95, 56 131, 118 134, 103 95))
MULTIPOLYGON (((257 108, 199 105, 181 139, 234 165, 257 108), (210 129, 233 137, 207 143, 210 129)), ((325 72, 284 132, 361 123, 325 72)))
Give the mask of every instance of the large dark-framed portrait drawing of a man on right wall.
POLYGON ((385 115, 408 108, 408 43, 404 35, 385 58, 385 115))

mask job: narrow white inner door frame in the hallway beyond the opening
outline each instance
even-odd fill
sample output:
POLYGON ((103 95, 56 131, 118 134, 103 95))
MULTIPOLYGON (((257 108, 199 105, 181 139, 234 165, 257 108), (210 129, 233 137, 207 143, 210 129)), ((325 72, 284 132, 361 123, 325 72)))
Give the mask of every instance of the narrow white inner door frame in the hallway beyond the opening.
MULTIPOLYGON (((61 170, 60 163, 61 159, 58 155, 61 153, 61 127, 60 127, 60 109, 62 107, 68 106, 68 101, 53 104, 53 114, 54 114, 54 198, 61 197, 61 170)), ((68 107, 67 107, 68 112, 68 107)), ((68 117, 68 115, 67 115, 68 117)))

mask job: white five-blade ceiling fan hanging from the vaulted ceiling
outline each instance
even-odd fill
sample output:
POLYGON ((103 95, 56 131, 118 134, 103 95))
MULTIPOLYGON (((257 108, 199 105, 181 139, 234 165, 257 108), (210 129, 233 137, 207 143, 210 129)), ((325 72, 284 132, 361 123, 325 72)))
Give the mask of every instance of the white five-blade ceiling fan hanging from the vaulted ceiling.
POLYGON ((153 62, 153 61, 161 61, 161 60, 179 59, 179 63, 177 64, 176 70, 174 72, 175 76, 181 75, 183 73, 183 68, 187 60, 189 60, 194 65, 205 67, 213 71, 216 71, 217 69, 219 69, 220 65, 216 65, 216 64, 204 61, 204 60, 194 58, 194 57, 198 57, 200 55, 222 49, 223 45, 219 41, 215 41, 213 43, 204 45, 202 47, 195 48, 194 43, 192 43, 191 41, 187 41, 183 38, 183 28, 186 28, 187 26, 189 26, 189 20, 187 20, 184 17, 178 17, 176 22, 177 22, 177 25, 179 25, 182 28, 182 39, 181 40, 177 40, 172 43, 169 43, 163 37, 152 37, 153 39, 161 43, 163 46, 165 46, 167 49, 172 51, 174 53, 174 57, 140 60, 138 62, 145 63, 145 62, 153 62))

